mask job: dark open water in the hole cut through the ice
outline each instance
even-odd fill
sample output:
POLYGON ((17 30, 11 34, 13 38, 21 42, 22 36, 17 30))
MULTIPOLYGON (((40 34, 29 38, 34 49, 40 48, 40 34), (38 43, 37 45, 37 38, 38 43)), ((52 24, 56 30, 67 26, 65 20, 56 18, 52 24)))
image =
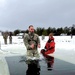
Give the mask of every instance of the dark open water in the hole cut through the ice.
POLYGON ((27 65, 22 57, 6 57, 10 75, 75 75, 75 65, 63 60, 49 57, 27 65))

